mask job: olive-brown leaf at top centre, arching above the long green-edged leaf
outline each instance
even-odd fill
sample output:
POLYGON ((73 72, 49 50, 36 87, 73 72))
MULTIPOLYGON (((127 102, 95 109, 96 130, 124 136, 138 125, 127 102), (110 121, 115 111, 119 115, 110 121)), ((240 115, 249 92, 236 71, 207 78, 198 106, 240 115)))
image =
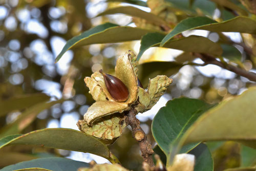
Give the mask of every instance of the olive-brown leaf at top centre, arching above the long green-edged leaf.
POLYGON ((116 14, 116 13, 122 13, 122 14, 127 14, 127 15, 131 15, 131 16, 143 18, 143 19, 147 20, 148 22, 151 22, 158 26, 167 25, 167 23, 161 17, 159 17, 153 13, 146 12, 146 11, 143 11, 138 8, 131 7, 131 6, 107 9, 107 10, 103 11, 102 13, 99 13, 97 16, 116 14))

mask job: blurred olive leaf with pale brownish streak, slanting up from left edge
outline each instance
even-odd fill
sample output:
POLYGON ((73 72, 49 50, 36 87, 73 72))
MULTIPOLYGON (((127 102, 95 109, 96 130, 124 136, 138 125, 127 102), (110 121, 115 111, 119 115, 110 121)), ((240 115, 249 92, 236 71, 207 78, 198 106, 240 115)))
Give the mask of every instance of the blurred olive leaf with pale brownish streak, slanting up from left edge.
POLYGON ((31 124, 34 121, 36 116, 41 111, 49 109, 54 104, 61 103, 63 101, 64 99, 51 102, 48 102, 47 100, 31 106, 26 111, 24 111, 20 116, 18 116, 18 118, 13 123, 10 123, 2 127, 2 129, 0 130, 0 138, 22 132, 29 124, 31 124))

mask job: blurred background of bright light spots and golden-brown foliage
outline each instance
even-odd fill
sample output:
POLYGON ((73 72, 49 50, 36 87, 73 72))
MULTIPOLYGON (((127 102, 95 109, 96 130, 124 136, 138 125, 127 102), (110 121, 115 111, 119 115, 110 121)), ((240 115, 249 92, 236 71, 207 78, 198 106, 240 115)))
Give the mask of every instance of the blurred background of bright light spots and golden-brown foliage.
MULTIPOLYGON (((0 0, 0 103, 7 99, 33 93, 44 93, 50 97, 50 101, 65 99, 47 110, 39 111, 31 123, 24 127, 22 133, 45 127, 65 127, 78 130, 76 122, 83 118, 83 114, 94 102, 83 78, 99 69, 113 74, 118 56, 127 50, 138 54, 140 41, 95 44, 69 50, 57 63, 54 63, 55 57, 67 40, 94 26, 111 22, 121 26, 135 27, 133 18, 127 15, 95 17, 105 9, 120 5, 128 4, 114 1, 106 3, 102 0, 0 0)), ((131 4, 129 5, 131 6, 131 4)), ((148 7, 136 7, 147 12, 151 11, 148 7)), ((220 9, 215 7, 212 10, 212 17, 218 18, 220 9)), ((179 19, 182 18, 178 18, 177 23, 179 19)), ((217 33, 202 30, 186 31, 183 35, 202 35, 212 41, 219 39, 217 33)), ((225 33, 225 35, 232 41, 242 41, 240 33, 225 33)), ((243 48, 241 46, 236 46, 236 48, 241 55, 244 67, 256 72, 254 64, 247 59, 243 48)), ((180 54, 182 54, 180 50, 151 48, 143 54, 140 63, 152 60, 175 61, 176 56, 180 54)), ((196 59, 194 62, 201 63, 202 61, 196 59)), ((204 67, 187 65, 179 68, 174 75, 168 76, 173 78, 174 82, 167 89, 166 94, 160 98, 152 110, 137 116, 153 146, 156 143, 151 135, 151 122, 157 111, 168 100, 185 96, 215 103, 241 94, 253 84, 247 78, 214 65, 204 67)), ((146 87, 147 81, 145 80, 148 78, 140 79, 143 80, 143 86, 146 87)), ((23 111, 14 110, 0 115, 0 135, 8 129, 8 125, 19 118, 23 111)), ((228 156, 232 153, 231 156, 234 156, 232 161, 236 161, 238 160, 236 158, 237 144, 234 143, 232 146, 233 148, 227 149, 223 158, 225 159, 225 155, 228 156)), ((138 144, 133 140, 129 128, 126 128, 123 135, 113 145, 110 145, 110 149, 124 167, 133 170, 138 170, 141 167, 143 160, 140 157, 138 144)), ((28 155, 24 156, 23 160, 56 155, 85 162, 91 160, 95 160, 97 163, 108 162, 106 159, 91 154, 41 147, 8 147, 0 151, 0 156, 5 151, 27 153, 28 155)), ((220 163, 215 163, 216 167, 225 164, 224 159, 220 160, 220 163)), ((9 163, 0 161, 0 167, 13 164, 18 160, 20 159, 17 158, 9 163)), ((232 166, 236 166, 236 162, 233 162, 232 166)))

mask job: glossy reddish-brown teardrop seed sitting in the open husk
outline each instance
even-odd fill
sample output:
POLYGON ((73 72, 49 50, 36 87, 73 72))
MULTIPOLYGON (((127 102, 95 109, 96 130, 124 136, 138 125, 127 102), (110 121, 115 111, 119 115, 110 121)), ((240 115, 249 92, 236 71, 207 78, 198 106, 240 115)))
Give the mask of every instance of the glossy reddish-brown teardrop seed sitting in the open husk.
POLYGON ((99 72, 103 75, 106 88, 113 99, 115 99, 117 102, 126 101, 129 97, 129 91, 125 84, 119 78, 113 75, 105 74, 102 70, 99 70, 99 72))

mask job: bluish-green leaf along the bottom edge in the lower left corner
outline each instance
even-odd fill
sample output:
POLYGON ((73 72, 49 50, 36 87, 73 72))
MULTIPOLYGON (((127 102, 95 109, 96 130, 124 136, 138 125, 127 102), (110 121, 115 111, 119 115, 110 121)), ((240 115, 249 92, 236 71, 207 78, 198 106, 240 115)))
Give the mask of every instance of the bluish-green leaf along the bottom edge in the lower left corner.
POLYGON ((1 171, 17 170, 31 167, 45 168, 54 171, 76 171, 79 167, 89 167, 89 164, 61 157, 49 157, 13 164, 2 168, 1 171))

